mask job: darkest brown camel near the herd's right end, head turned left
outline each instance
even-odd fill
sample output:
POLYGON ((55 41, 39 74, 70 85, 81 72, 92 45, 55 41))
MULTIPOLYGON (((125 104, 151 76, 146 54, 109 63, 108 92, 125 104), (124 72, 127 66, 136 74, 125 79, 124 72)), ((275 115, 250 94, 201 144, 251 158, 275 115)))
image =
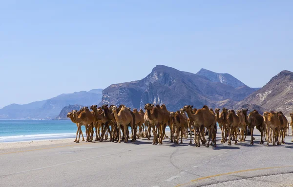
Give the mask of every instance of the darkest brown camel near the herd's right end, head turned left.
MULTIPOLYGON (((244 113, 247 112, 247 110, 243 111, 244 113)), ((264 133, 266 131, 266 124, 264 121, 264 118, 262 115, 260 115, 257 110, 253 110, 252 112, 249 113, 248 118, 248 126, 251 129, 251 145, 253 145, 253 129, 256 127, 256 129, 260 132, 260 143, 259 144, 264 144, 264 133)))

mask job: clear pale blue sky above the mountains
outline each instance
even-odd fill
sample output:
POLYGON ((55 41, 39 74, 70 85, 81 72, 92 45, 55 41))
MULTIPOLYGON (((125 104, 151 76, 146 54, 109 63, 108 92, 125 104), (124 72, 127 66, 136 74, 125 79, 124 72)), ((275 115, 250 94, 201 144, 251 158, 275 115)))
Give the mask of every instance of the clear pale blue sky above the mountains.
POLYGON ((138 80, 157 64, 262 87, 293 71, 293 0, 0 1, 0 108, 138 80))

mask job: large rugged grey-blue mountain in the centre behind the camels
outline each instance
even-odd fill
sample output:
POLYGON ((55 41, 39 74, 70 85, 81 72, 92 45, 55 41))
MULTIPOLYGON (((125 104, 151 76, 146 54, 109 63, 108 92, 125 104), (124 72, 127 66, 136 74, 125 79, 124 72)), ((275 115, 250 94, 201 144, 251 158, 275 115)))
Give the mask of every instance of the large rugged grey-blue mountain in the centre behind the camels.
POLYGON ((103 90, 100 105, 125 104, 131 108, 144 108, 146 103, 166 104, 170 111, 176 111, 184 105, 194 105, 196 108, 208 105, 214 108, 221 102, 226 104, 229 99, 236 103, 255 92, 232 75, 223 75, 225 81, 222 83, 214 79, 211 81, 201 73, 192 74, 157 65, 142 80, 107 87, 103 90), (237 84, 236 88, 232 86, 237 84))

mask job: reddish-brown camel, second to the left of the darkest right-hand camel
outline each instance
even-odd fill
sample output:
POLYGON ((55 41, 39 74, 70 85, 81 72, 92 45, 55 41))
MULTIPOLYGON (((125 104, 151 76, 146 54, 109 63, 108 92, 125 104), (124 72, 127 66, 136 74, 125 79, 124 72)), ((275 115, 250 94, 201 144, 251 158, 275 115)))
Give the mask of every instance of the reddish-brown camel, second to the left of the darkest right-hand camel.
POLYGON ((238 126, 239 126, 239 117, 235 113, 234 110, 230 110, 230 112, 227 115, 227 129, 229 131, 229 139, 228 139, 228 146, 231 145, 231 136, 233 131, 235 131, 235 145, 237 145, 237 131, 238 131, 238 126))

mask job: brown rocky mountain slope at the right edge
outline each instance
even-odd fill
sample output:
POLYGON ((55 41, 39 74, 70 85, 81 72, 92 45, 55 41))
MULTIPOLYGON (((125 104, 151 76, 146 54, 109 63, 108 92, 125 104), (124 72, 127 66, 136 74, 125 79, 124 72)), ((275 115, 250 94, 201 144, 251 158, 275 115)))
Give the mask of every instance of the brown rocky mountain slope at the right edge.
POLYGON ((255 104, 267 111, 282 111, 288 115, 293 111, 293 72, 282 71, 261 89, 236 103, 240 108, 245 104, 255 104))

